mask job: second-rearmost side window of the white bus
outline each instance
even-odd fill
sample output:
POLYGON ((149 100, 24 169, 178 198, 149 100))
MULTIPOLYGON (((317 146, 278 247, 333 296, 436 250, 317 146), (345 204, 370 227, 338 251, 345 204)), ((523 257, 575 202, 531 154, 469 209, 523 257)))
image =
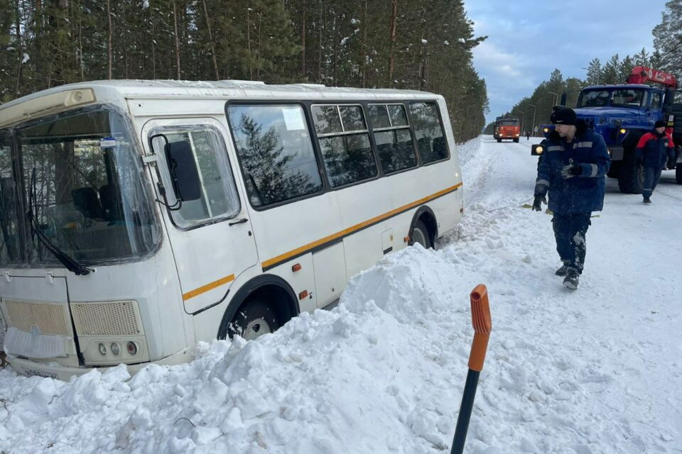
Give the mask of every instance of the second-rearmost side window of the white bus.
POLYGON ((417 155, 402 104, 370 104, 369 121, 385 174, 416 167, 417 155))

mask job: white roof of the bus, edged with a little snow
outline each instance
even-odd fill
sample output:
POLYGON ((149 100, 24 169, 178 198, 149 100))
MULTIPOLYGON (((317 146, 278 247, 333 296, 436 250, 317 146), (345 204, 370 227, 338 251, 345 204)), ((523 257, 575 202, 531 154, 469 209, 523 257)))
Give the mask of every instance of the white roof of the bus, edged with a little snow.
POLYGON ((34 116, 70 109, 65 93, 83 90, 91 93, 86 101, 75 104, 92 104, 121 99, 434 99, 438 94, 418 90, 360 89, 352 87, 325 87, 322 84, 269 85, 264 82, 244 80, 178 81, 178 80, 96 80, 60 85, 0 105, 0 126, 23 121, 34 116), (64 96, 60 96, 60 94, 64 96), (51 99, 50 99, 50 95, 51 99), (43 103, 45 99, 45 103, 43 103), (48 101, 50 99, 50 101, 48 101), (22 106, 23 105, 23 106, 22 106))

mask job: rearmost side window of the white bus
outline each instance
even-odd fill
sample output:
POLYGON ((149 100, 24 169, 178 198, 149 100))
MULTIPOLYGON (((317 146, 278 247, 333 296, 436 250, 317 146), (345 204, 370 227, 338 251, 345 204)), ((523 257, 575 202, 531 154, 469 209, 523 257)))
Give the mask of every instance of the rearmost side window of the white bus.
POLYGON ((414 126, 421 162, 428 164, 448 157, 445 133, 438 117, 438 106, 433 102, 411 103, 410 119, 414 126))

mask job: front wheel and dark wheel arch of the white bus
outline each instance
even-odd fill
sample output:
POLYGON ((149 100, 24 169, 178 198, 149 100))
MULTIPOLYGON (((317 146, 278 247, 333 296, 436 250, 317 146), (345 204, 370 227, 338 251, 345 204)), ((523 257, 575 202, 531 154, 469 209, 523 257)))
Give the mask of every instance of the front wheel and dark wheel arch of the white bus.
POLYGON ((261 326, 265 331, 259 334, 276 331, 298 315, 296 301, 293 289, 281 277, 254 277, 230 301, 222 316, 217 338, 232 338, 236 333, 243 336, 247 331, 258 333, 261 326))

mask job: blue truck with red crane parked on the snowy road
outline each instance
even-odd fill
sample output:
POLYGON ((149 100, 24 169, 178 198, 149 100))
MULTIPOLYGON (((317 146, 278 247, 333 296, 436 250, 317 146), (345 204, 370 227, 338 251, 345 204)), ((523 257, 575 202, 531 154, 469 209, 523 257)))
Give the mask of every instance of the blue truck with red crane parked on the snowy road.
MULTIPOLYGON (((676 90, 672 74, 638 66, 626 84, 595 85, 580 91, 575 114, 604 138, 611 155, 608 176, 618 179, 621 192, 642 192, 644 169, 635 162, 635 148, 658 120, 666 121, 666 131, 673 135, 676 166, 668 170, 675 170, 676 182, 682 184, 682 104, 675 103, 676 90)), ((565 94, 561 104, 565 105, 565 94)), ((553 130, 552 125, 541 128, 545 136, 553 130)), ((531 153, 541 154, 542 148, 533 145, 531 153)))

